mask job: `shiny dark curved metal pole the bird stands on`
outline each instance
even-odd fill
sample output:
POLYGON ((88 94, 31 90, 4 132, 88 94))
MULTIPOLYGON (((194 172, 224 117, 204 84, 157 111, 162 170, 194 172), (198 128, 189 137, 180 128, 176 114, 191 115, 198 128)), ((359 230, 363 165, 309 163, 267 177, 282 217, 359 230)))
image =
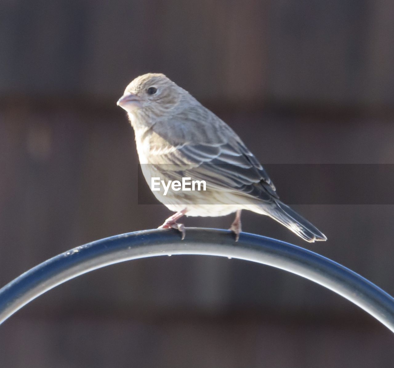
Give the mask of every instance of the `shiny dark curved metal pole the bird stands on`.
POLYGON ((394 299, 375 284, 321 255, 264 236, 228 230, 154 229, 112 236, 59 254, 23 273, 0 290, 0 323, 37 296, 78 275, 132 259, 162 255, 212 255, 284 269, 333 290, 394 332, 394 299))

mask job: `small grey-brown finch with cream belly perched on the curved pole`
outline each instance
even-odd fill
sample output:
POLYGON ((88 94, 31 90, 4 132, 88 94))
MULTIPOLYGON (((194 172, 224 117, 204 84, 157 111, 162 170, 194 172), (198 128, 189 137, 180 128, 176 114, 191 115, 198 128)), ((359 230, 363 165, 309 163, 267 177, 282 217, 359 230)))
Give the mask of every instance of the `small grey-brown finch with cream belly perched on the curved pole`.
POLYGON ((225 216, 235 212, 230 229, 238 241, 241 211, 272 217, 307 242, 326 236, 279 199, 276 188, 241 138, 188 91, 161 73, 138 76, 117 101, 134 128, 139 163, 148 184, 193 178, 206 190, 169 186, 151 190, 175 212, 159 227, 186 230, 177 221, 186 216, 225 216))

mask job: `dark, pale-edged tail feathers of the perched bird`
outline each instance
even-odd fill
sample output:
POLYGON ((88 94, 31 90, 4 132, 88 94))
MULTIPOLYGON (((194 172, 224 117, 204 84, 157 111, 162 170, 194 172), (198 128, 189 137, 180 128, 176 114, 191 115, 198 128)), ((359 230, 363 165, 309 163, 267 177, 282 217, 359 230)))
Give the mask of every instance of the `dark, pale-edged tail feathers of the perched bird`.
POLYGON ((264 212, 307 242, 327 240, 326 236, 309 221, 277 199, 271 205, 264 206, 264 212))

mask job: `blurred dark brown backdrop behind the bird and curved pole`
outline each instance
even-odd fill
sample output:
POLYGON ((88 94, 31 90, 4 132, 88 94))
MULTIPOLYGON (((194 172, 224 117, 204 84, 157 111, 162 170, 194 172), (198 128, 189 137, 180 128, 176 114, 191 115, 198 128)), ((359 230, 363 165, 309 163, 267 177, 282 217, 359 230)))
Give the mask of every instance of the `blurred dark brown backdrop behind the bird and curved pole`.
MULTIPOLYGON (((163 72, 190 91, 263 164, 394 164, 393 18, 394 3, 367 0, 2 0, 1 286, 170 215, 138 203, 134 134, 116 106, 139 74, 163 72)), ((393 295, 393 198, 338 203, 330 183, 341 178, 312 176, 328 201, 297 200, 308 198, 305 175, 292 176, 291 193, 284 169, 271 178, 327 242, 253 213, 243 229, 332 258, 393 295)), ((184 223, 227 229, 232 219, 184 223)), ((392 344, 366 312, 306 279, 172 256, 106 267, 39 297, 0 327, 0 365, 389 367, 392 344)))

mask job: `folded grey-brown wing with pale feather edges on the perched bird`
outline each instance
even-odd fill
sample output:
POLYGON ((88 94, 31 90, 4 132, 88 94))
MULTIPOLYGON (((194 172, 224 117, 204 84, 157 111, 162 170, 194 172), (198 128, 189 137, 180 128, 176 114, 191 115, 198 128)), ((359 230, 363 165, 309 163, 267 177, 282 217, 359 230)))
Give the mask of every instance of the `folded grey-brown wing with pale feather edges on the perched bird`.
POLYGON ((155 132, 162 139, 156 151, 161 163, 157 168, 165 171, 167 178, 205 180, 212 188, 265 201, 279 198, 255 156, 236 133, 209 110, 199 108, 195 113, 189 110, 187 115, 177 116, 171 123, 156 126, 155 132), (168 143, 167 148, 163 141, 168 143))

